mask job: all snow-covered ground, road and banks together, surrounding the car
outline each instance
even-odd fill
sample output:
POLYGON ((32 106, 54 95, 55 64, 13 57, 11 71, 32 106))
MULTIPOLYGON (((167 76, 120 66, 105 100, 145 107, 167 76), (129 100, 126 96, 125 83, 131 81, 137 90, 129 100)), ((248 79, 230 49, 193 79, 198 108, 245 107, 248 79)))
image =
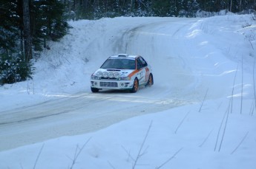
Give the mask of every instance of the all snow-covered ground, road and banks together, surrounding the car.
POLYGON ((252 15, 70 25, 33 80, 0 87, 0 168, 255 168, 252 15), (118 53, 142 55, 154 86, 92 94, 118 53))

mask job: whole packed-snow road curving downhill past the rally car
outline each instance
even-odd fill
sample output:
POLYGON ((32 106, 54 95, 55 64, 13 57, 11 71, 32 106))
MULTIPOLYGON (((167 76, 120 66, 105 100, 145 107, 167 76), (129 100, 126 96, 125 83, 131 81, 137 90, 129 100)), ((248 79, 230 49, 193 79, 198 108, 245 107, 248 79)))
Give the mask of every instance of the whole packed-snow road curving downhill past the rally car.
MULTIPOLYGON (((207 89, 209 98, 226 94, 229 85, 218 89, 212 76, 224 79, 226 76, 222 73, 231 69, 221 69, 221 66, 216 66, 217 61, 214 60, 209 61, 209 65, 200 65, 200 60, 204 58, 193 55, 194 50, 200 50, 202 47, 197 49, 195 41, 188 41, 187 31, 198 21, 197 18, 145 18, 140 24, 132 21, 132 18, 124 21, 121 30, 116 30, 110 21, 110 24, 102 28, 109 32, 104 34, 102 30, 98 30, 99 37, 91 40, 86 48, 87 53, 102 55, 103 58, 124 52, 140 54, 154 70, 154 86, 141 89, 136 94, 92 94, 87 88, 85 92, 63 94, 58 99, 44 103, 1 111, 0 151, 64 135, 96 131, 130 117, 197 103, 203 99, 207 89), (206 73, 207 69, 211 69, 211 75, 201 73, 202 70, 206 73), (211 79, 208 79, 209 76, 211 79), (212 85, 203 85, 206 81, 212 85), (216 92, 217 90, 219 92, 216 92)), ((89 31, 82 29, 85 25, 80 26, 80 31, 89 31)), ((76 36, 79 36, 79 32, 76 36)), ((82 43, 80 45, 85 48, 82 43)), ((104 60, 99 59, 98 63, 104 60)), ((221 64, 225 64, 225 61, 221 64)), ((92 69, 96 67, 91 66, 92 69)), ((85 82, 89 83, 89 80, 85 82)))

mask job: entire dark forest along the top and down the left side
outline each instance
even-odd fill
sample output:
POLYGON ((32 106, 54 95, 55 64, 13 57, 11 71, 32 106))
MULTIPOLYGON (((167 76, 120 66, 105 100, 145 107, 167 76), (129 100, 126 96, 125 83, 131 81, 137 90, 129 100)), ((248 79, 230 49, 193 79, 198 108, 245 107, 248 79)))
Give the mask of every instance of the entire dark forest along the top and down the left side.
POLYGON ((256 0, 1 0, 0 85, 31 77, 31 59, 68 33, 69 19, 195 17, 198 11, 204 17, 221 10, 250 13, 256 0))

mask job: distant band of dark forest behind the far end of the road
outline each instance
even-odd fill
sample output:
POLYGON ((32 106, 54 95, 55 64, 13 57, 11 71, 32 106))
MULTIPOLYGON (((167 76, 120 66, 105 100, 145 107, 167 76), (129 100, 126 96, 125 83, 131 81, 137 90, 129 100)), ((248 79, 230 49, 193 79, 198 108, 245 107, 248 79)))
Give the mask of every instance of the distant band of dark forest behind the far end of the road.
POLYGON ((255 0, 70 0, 71 17, 102 18, 115 16, 195 17, 198 11, 249 13, 256 8, 255 0), (74 12, 74 13, 73 13, 74 12))

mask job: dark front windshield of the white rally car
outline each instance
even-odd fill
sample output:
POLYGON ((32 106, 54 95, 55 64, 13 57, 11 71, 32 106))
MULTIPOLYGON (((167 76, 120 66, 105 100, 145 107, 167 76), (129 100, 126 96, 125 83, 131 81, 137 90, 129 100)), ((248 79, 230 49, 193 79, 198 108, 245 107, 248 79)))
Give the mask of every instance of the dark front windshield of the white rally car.
POLYGON ((102 69, 135 69, 134 59, 112 59, 109 58, 100 67, 102 69))

